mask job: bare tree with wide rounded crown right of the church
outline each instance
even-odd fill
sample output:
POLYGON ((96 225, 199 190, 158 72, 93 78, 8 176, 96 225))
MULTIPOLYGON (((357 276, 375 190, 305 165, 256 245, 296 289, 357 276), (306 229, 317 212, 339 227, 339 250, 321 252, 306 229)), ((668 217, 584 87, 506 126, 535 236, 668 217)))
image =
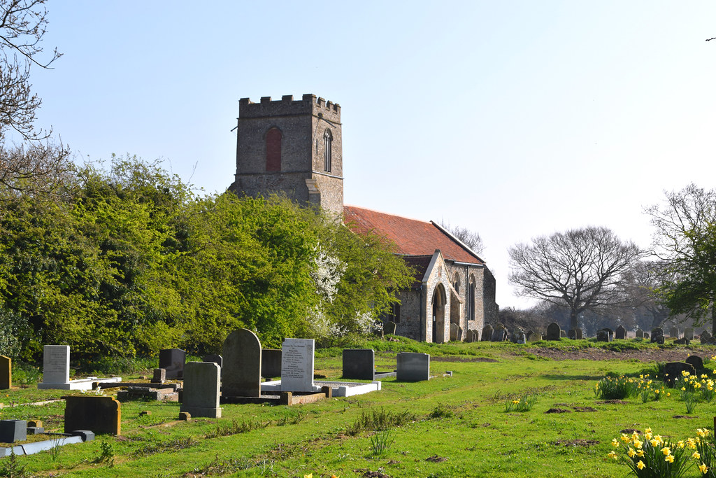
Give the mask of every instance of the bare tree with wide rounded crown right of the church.
POLYGON ((642 252, 610 229, 586 227, 532 239, 509 249, 509 280, 518 293, 569 308, 571 328, 584 310, 623 302, 619 279, 642 252))

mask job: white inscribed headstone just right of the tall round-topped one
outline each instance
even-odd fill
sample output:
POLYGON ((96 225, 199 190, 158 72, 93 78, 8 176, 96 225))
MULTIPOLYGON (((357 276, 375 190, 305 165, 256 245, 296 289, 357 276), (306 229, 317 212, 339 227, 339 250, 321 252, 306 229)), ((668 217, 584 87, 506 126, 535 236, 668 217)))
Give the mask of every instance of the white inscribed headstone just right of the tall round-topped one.
POLYGON ((281 391, 314 391, 314 340, 286 338, 281 345, 281 391))

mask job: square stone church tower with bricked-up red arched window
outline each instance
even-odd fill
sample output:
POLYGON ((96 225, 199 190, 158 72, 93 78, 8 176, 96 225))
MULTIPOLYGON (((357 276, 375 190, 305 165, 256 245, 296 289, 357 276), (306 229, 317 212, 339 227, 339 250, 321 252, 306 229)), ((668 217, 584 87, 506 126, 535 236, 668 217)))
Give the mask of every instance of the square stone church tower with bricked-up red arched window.
POLYGON ((236 176, 230 191, 285 193, 343 212, 341 107, 316 95, 239 100, 236 176))

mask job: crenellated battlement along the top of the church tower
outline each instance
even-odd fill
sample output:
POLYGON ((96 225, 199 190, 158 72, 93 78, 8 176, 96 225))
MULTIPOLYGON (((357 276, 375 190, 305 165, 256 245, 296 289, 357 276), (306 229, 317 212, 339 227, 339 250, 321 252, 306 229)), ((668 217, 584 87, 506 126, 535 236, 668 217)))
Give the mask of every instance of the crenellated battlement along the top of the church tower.
POLYGON ((249 98, 238 100, 239 118, 262 118, 267 116, 285 115, 314 115, 326 117, 328 120, 341 121, 341 105, 316 95, 306 94, 300 100, 294 100, 294 95, 284 95, 281 100, 271 101, 270 96, 261 97, 258 103, 249 98))

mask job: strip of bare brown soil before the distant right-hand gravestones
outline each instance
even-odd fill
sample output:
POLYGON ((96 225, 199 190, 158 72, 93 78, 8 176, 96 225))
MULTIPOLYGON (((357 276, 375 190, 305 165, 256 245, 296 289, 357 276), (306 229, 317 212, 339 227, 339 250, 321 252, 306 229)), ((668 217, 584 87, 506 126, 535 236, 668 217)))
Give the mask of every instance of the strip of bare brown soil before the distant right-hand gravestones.
MULTIPOLYGON (((619 360, 639 360, 640 362, 683 362, 689 356, 694 355, 694 350, 668 350, 668 349, 649 349, 649 350, 623 350, 617 352, 615 350, 606 350, 604 348, 582 348, 565 350, 552 347, 536 347, 528 348, 527 352, 533 353, 538 357, 549 358, 551 360, 609 360, 610 358, 618 358, 619 360)), ((697 355, 707 355, 710 351, 697 355)), ((517 355, 517 354, 516 354, 517 355)), ((432 358, 431 358, 432 359, 432 358)))

